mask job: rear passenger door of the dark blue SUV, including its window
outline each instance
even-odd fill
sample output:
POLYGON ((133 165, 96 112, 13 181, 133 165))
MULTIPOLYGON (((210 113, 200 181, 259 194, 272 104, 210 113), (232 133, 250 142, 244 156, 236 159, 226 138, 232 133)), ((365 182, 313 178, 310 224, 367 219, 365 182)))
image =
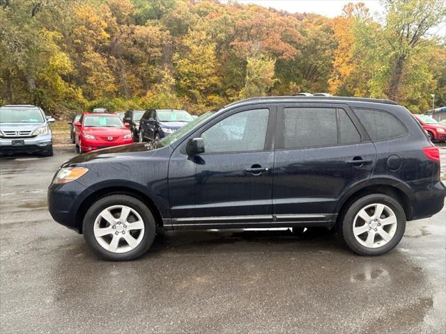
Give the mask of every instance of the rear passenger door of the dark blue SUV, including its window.
POLYGON ((276 133, 277 222, 332 220, 339 198, 374 168, 376 148, 344 104, 279 104, 276 133))

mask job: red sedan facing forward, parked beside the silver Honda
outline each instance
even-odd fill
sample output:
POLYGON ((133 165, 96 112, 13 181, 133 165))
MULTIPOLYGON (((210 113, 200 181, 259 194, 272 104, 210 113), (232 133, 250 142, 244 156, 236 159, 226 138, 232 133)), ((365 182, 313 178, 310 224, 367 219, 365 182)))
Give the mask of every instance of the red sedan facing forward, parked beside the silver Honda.
POLYGON ((75 141, 79 153, 133 143, 130 129, 112 113, 83 113, 75 123, 75 141))

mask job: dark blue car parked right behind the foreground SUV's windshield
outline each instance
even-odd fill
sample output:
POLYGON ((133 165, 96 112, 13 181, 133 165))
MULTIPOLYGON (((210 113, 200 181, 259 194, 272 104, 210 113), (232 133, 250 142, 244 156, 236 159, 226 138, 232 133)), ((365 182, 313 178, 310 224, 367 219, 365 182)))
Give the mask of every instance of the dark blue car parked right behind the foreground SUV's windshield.
POLYGON ((185 110, 148 109, 139 122, 139 142, 159 141, 192 120, 194 118, 185 110))

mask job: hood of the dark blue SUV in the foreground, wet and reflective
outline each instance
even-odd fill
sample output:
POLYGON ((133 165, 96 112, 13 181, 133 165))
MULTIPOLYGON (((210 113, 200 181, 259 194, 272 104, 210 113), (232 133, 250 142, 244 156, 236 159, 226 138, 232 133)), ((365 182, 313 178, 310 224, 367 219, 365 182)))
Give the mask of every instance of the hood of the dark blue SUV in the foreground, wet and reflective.
POLYGON ((155 150, 150 149, 148 143, 133 143, 128 145, 114 146, 112 148, 103 148, 88 153, 77 155, 76 157, 66 161, 63 167, 83 164, 86 162, 94 162, 95 160, 104 159, 134 159, 142 157, 150 157, 155 150))

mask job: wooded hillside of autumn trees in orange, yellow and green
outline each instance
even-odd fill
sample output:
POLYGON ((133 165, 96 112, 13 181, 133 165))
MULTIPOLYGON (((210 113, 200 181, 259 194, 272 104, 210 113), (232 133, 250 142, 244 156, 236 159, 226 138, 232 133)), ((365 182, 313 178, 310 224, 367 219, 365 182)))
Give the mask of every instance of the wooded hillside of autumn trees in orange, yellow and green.
POLYGON ((339 17, 230 1, 0 0, 0 104, 59 117, 95 106, 202 113, 245 97, 328 92, 446 104, 443 0, 339 17), (439 32, 432 30, 440 26, 439 32))

